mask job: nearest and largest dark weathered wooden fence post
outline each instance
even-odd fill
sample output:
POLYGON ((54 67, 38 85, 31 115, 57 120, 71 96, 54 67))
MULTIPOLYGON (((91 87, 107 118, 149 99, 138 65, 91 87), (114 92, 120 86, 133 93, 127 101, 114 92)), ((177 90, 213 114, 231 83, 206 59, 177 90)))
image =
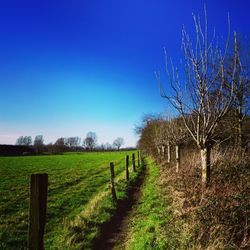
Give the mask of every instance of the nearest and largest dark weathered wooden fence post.
POLYGON ((30 207, 28 249, 43 250, 46 222, 48 174, 32 174, 30 177, 30 207))

